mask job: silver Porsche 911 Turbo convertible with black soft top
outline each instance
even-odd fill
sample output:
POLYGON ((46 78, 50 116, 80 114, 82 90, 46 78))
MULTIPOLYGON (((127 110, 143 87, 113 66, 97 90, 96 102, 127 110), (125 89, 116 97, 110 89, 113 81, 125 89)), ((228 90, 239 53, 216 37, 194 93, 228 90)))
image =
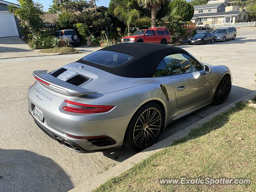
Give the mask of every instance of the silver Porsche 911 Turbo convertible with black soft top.
POLYGON ((29 112, 50 137, 76 152, 143 150, 171 122, 226 100, 226 66, 199 62, 163 44, 116 44, 50 73, 37 70, 29 112))

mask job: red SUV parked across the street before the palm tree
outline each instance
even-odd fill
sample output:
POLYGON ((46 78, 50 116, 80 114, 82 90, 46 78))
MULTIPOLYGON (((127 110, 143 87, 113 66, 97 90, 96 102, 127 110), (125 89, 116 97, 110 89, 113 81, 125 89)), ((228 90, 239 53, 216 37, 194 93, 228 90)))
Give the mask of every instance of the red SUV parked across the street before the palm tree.
POLYGON ((122 38, 122 43, 145 42, 167 44, 171 36, 167 28, 150 28, 134 32, 132 36, 122 38))

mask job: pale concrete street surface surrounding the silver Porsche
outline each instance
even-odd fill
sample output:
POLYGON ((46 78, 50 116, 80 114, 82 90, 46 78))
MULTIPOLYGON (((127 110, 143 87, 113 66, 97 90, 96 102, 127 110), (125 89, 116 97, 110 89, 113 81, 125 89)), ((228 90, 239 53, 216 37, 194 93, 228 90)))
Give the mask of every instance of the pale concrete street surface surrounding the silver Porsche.
MULTIPOLYGON (((164 139, 222 106, 256 89, 256 28, 238 29, 234 41, 182 46, 202 62, 224 64, 233 74, 230 96, 220 106, 207 106, 171 124, 164 139)), ((60 55, 0 60, 0 188, 4 192, 64 192, 114 166, 134 152, 117 150, 80 154, 42 132, 28 114, 26 91, 34 70, 54 70, 86 55, 60 55)))

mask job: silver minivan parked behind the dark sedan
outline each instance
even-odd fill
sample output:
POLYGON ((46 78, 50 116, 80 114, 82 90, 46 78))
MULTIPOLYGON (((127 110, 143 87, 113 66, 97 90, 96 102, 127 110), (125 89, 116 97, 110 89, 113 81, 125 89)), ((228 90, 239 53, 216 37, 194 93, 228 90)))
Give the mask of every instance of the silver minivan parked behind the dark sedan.
POLYGON ((222 27, 212 32, 217 41, 225 42, 228 39, 235 40, 237 36, 236 28, 234 27, 222 27))

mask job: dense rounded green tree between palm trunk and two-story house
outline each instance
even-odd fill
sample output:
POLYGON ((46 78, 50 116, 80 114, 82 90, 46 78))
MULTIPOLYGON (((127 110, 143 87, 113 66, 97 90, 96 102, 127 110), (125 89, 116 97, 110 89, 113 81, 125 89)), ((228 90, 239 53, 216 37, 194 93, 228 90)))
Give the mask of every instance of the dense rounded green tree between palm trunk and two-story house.
POLYGON ((183 22, 190 21, 194 15, 194 7, 186 0, 173 0, 169 2, 170 10, 176 8, 176 15, 181 17, 183 22))

